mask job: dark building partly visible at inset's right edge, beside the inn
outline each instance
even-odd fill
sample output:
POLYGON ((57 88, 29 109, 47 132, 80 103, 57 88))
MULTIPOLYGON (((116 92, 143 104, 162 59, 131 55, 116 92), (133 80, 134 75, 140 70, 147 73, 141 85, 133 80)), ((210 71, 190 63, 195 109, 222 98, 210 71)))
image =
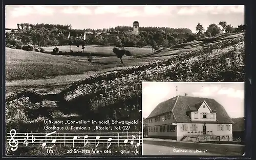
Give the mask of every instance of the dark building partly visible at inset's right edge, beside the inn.
POLYGON ((244 117, 232 118, 233 140, 244 140, 244 117))

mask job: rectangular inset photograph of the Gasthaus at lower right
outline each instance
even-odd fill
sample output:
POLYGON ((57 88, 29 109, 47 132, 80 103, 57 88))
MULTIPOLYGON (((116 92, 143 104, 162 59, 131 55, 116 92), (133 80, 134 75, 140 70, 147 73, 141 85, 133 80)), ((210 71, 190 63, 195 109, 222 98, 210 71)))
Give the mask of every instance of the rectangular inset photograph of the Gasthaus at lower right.
POLYGON ((243 155, 244 83, 143 82, 143 155, 243 155))

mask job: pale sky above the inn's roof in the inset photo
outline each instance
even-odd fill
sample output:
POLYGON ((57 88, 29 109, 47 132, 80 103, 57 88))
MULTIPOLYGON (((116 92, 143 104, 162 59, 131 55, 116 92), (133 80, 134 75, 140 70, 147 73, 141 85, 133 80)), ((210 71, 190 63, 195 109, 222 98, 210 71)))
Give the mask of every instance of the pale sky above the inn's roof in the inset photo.
POLYGON ((244 83, 188 83, 143 82, 142 116, 146 118, 156 106, 177 95, 213 98, 226 110, 230 118, 244 117, 244 83))

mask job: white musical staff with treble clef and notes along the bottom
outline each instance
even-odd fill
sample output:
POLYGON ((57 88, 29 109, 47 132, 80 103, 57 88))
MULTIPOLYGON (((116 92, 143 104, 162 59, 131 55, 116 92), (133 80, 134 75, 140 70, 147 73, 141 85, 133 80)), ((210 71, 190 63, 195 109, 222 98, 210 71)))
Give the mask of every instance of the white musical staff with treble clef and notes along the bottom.
POLYGON ((12 151, 18 147, 122 147, 142 146, 141 132, 57 132, 17 133, 12 129, 7 134, 7 143, 12 151))

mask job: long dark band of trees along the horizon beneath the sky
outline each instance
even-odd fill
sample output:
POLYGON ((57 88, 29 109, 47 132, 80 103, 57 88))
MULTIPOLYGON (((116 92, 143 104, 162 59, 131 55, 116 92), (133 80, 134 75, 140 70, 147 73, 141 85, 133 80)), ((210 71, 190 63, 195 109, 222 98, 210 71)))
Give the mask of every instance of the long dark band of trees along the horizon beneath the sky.
MULTIPOLYGON (((217 24, 210 24, 206 32, 203 32, 203 26, 198 23, 196 26, 197 34, 192 33, 189 29, 142 27, 140 28, 139 35, 132 35, 129 32, 130 26, 117 26, 115 29, 102 30, 105 33, 111 33, 110 35, 97 34, 95 36, 87 36, 86 40, 82 40, 84 32, 92 31, 91 29, 72 30, 71 25, 22 23, 17 24, 17 30, 11 30, 11 32, 6 33, 6 45, 8 47, 25 44, 33 44, 34 46, 115 45, 117 47, 150 45, 157 49, 158 46, 169 47, 179 43, 223 34, 224 31, 226 33, 244 31, 244 25, 239 25, 238 28, 233 28, 231 25, 227 25, 226 22, 220 22, 219 25, 221 28, 217 24), (113 34, 114 31, 119 32, 118 34, 113 34)), ((97 32, 100 32, 100 30, 97 32)))

